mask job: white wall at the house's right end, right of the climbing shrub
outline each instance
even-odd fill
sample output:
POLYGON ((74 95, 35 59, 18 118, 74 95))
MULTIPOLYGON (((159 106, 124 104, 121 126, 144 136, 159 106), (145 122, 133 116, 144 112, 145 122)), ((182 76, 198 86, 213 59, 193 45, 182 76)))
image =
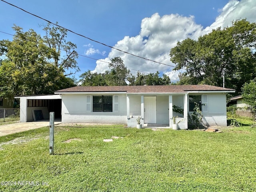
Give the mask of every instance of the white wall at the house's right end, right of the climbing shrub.
POLYGON ((208 112, 202 111, 206 126, 227 126, 226 94, 207 94, 208 112))

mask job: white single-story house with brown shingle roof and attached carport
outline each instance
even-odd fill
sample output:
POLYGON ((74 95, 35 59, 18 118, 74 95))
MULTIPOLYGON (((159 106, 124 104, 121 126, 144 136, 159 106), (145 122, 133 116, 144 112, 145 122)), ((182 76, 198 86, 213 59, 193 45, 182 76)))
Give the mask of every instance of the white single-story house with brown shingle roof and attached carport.
MULTIPOLYGON (((168 124, 172 127, 172 118, 178 115, 172 111, 172 106, 176 105, 184 109, 179 119, 185 120, 179 126, 186 129, 187 114, 193 110, 194 102, 202 108, 205 125, 226 126, 227 92, 235 90, 209 85, 76 86, 56 91, 55 99, 61 98, 62 123, 127 124, 128 127, 136 127, 136 118, 141 116, 142 126, 168 124)), ((29 101, 42 103, 40 99, 53 100, 54 95, 19 98, 20 121, 26 122, 28 113, 31 113, 29 101)), ((43 107, 38 105, 33 109, 40 108, 43 107)))

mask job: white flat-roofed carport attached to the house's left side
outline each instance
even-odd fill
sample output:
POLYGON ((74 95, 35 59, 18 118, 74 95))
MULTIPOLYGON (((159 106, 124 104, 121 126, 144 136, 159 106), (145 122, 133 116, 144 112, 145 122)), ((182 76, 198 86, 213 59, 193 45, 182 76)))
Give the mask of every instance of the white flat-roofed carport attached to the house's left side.
POLYGON ((50 112, 54 112, 55 119, 61 119, 60 94, 16 96, 15 98, 20 99, 20 122, 49 119, 50 112))

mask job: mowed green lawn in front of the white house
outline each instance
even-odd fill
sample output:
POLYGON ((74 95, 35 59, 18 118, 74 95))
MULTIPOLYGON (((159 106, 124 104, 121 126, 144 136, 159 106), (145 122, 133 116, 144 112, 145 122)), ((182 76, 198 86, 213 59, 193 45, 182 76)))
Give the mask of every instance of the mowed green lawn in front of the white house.
MULTIPOLYGON (((0 141, 15 136, 22 134, 0 141)), ((222 133, 56 127, 54 155, 48 128, 23 136, 38 139, 1 146, 0 180, 34 186, 0 191, 256 191, 256 130, 249 126, 222 133), (103 142, 112 136, 122 138, 103 142)))

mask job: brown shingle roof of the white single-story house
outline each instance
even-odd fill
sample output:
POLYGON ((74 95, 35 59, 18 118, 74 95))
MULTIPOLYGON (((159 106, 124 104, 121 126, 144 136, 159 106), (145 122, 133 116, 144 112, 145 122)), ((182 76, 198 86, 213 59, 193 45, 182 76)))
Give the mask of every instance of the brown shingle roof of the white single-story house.
POLYGON ((59 92, 183 93, 188 91, 235 91, 211 85, 76 86, 59 92))

